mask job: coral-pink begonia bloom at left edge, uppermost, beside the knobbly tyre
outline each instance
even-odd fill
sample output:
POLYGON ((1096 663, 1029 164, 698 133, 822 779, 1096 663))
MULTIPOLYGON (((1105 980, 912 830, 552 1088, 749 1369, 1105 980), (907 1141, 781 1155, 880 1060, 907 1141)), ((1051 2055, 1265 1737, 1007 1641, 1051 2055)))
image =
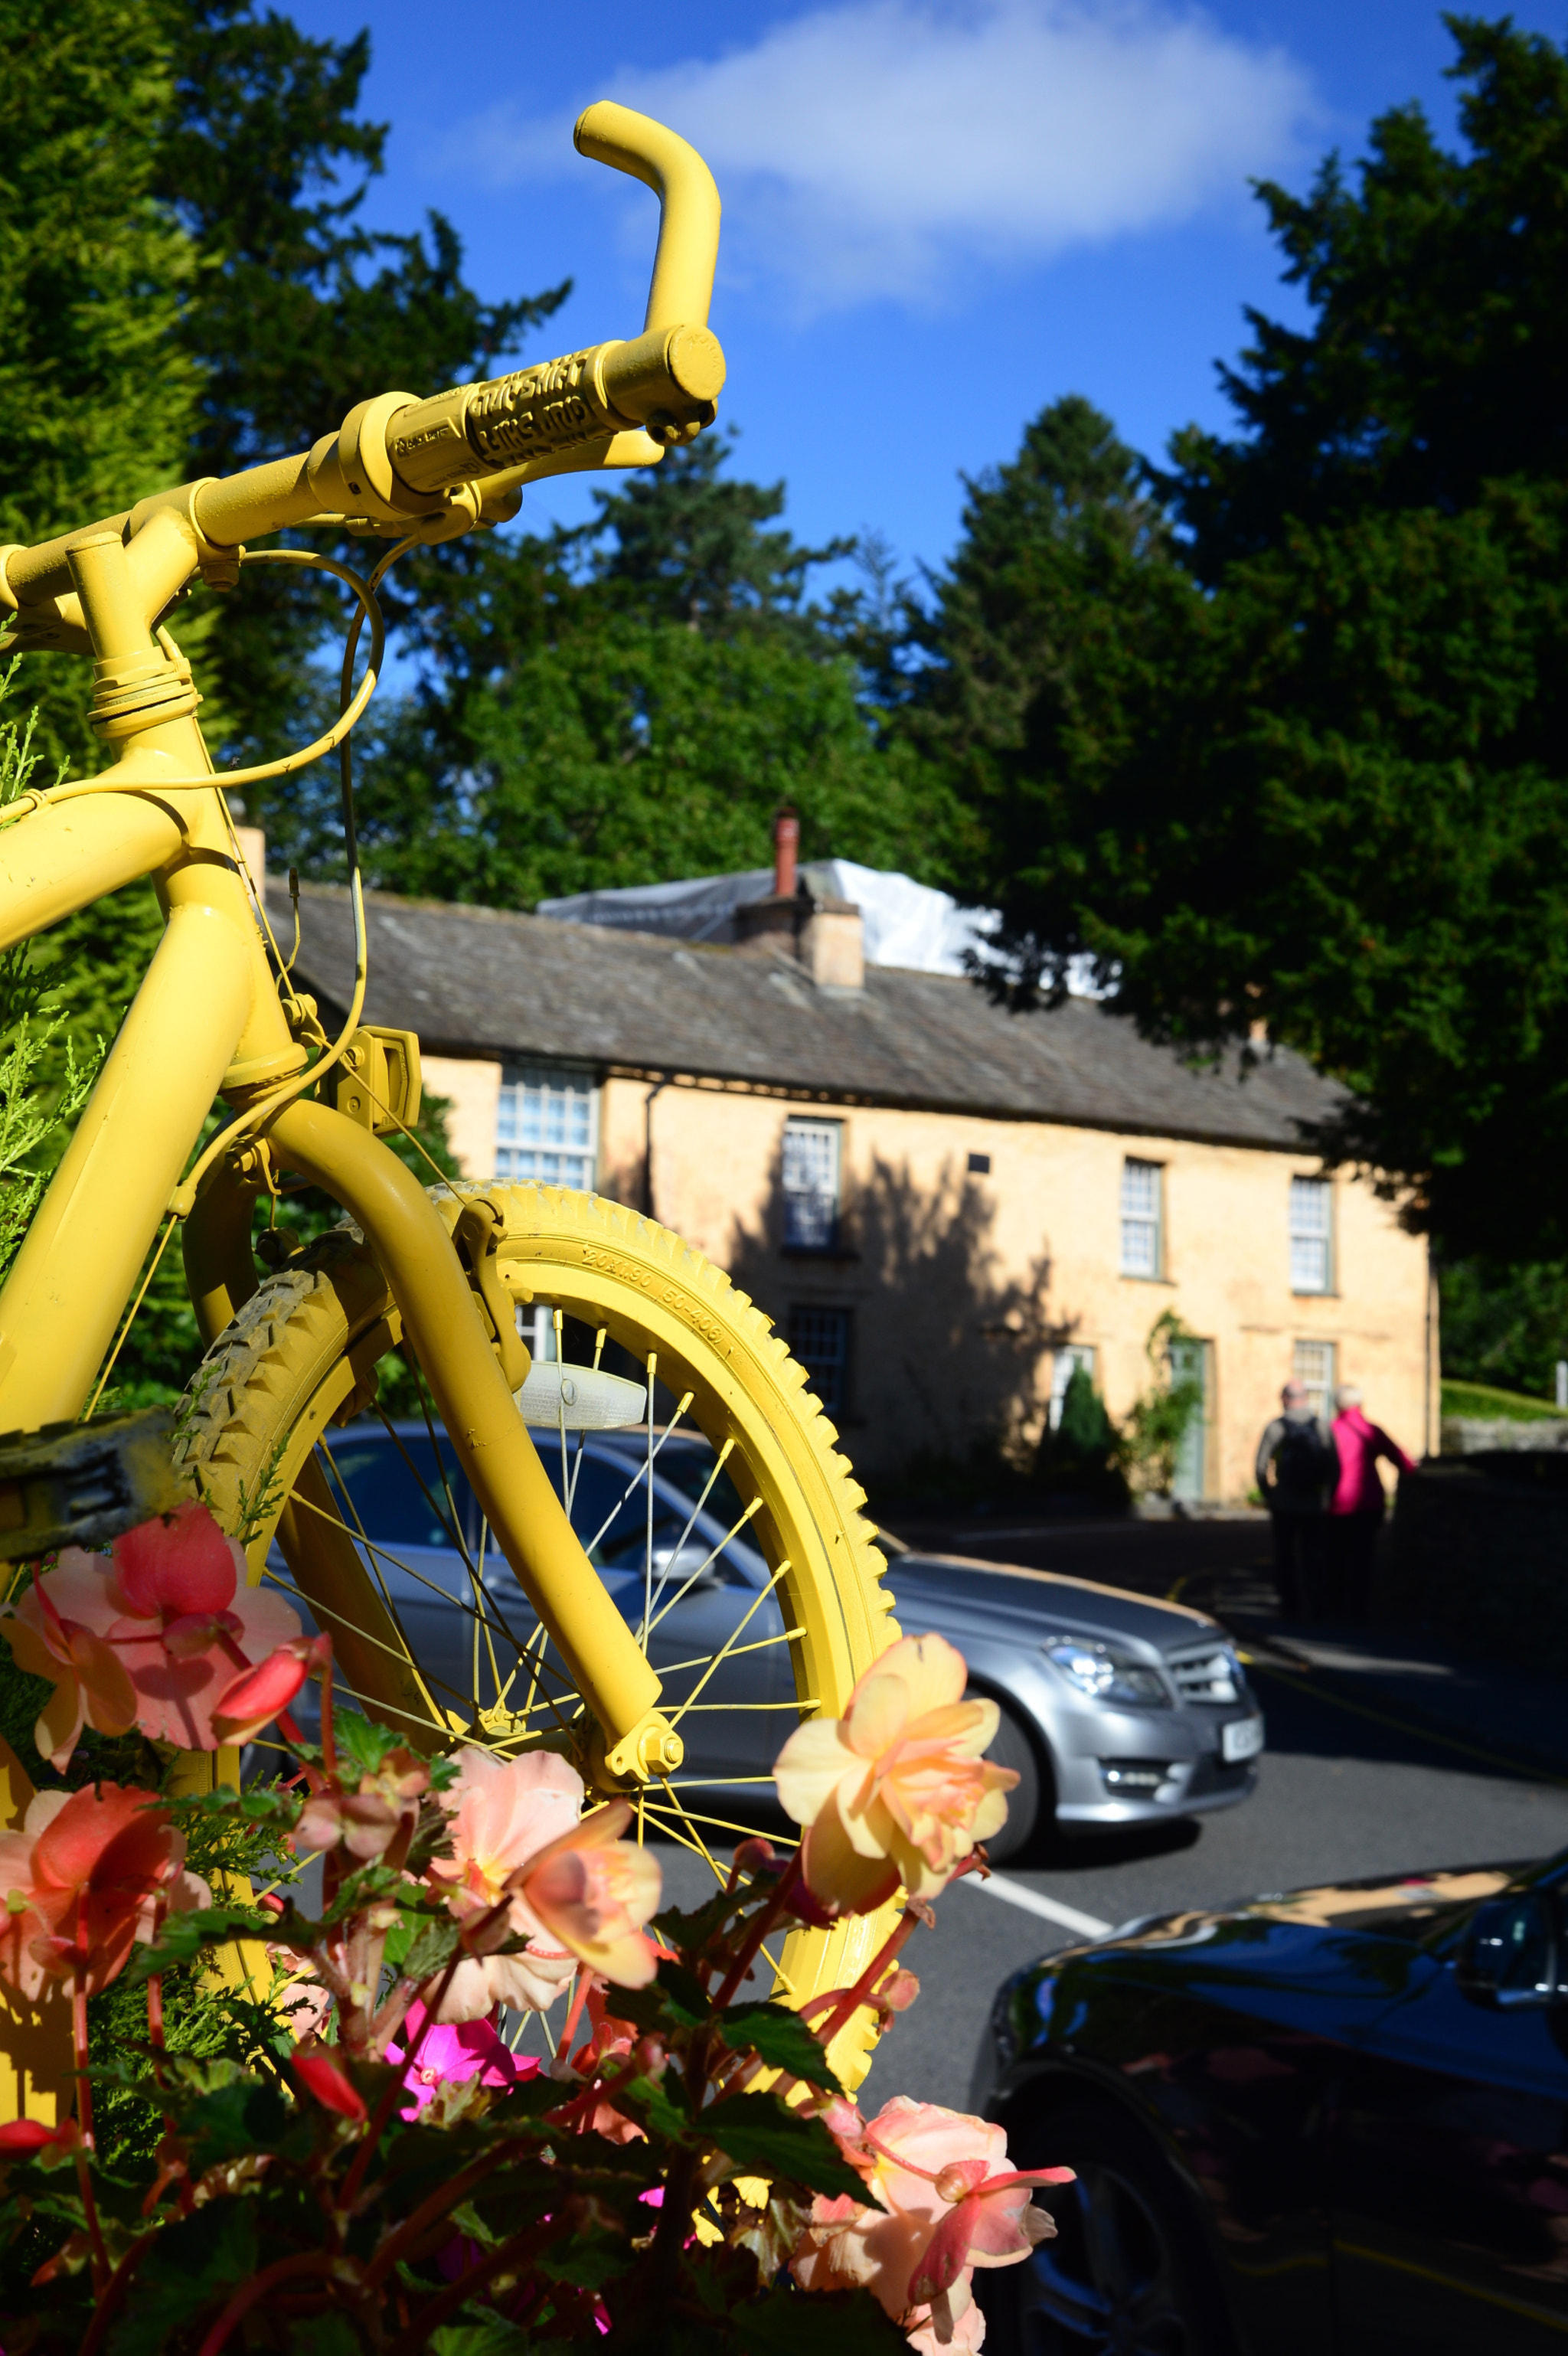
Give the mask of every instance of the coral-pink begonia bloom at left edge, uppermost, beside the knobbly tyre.
POLYGON ((82 1725, 139 1727, 181 1751, 217 1751, 214 1708, 245 1675, 299 1635, 297 1612, 245 1583, 245 1555, 205 1505, 115 1538, 113 1555, 66 1546, 0 1628, 19 1668, 47 1677, 35 1741, 64 1769, 82 1725))

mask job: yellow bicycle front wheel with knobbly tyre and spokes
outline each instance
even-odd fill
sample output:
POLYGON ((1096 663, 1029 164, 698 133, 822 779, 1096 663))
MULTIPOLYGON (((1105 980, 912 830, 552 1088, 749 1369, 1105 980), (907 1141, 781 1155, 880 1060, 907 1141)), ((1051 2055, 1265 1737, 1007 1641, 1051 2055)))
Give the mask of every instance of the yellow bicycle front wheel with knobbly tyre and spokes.
MULTIPOLYGON (((544 1312, 565 1362, 544 1392, 542 1456, 600 1579, 664 1682, 685 1743, 638 1793, 638 1831, 720 1873, 749 1831, 782 1835, 770 1767, 803 1718, 838 1718, 897 1635, 864 1491, 805 1369, 723 1270, 666 1227, 596 1194, 544 1185, 440 1187, 504 1213, 499 1277, 544 1312), (612 1350, 614 1345, 614 1350, 612 1350), (664 1425, 582 1428, 563 1392, 619 1352, 676 1399, 664 1425), (572 1355, 577 1352, 577 1364, 572 1355), (565 1383, 560 1381, 565 1376, 565 1383), (577 1376, 577 1381, 574 1381, 577 1376)), ((273 1275, 207 1352, 179 1454, 252 1579, 292 1586, 332 1626, 346 1682, 426 1746, 516 1755, 549 1739, 593 1791, 593 1727, 461 1475, 450 1435, 374 1402, 400 1319, 374 1253, 339 1227, 273 1275)), ((534 1385, 539 1388, 539 1385, 534 1385)), ((624 1392, 636 1399, 631 1383, 624 1392)), ((857 1977, 888 1913, 798 1930, 777 1958, 796 2003, 857 1977)), ((869 2017, 836 2040, 845 2083, 869 2017)))

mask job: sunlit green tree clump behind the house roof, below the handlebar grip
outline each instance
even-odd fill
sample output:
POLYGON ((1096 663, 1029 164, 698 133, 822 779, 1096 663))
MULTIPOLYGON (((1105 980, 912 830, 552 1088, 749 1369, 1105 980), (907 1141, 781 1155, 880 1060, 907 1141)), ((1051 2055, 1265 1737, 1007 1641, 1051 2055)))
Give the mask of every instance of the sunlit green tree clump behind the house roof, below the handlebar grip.
MULTIPOLYGON (((723 474, 725 452, 695 443, 598 492, 589 528, 414 563, 426 688, 360 770, 377 884, 525 907, 756 867, 779 801, 808 858, 932 867, 942 794, 878 744, 852 648, 805 596, 845 544, 775 530, 784 488, 723 474)), ((327 789, 301 780, 290 813, 283 855, 330 869, 327 789)))

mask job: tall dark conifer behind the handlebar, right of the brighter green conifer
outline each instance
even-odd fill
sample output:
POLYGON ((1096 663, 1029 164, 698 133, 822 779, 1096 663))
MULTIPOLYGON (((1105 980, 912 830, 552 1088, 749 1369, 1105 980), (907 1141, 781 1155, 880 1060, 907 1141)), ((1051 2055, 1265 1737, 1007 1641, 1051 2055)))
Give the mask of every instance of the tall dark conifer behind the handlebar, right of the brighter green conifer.
MULTIPOLYGON (((358 118, 367 33, 311 40, 285 14, 257 16, 252 0, 165 5, 179 73, 158 191, 195 257, 179 327, 202 386, 191 474, 308 450, 370 393, 494 375, 565 302, 570 280, 480 302, 461 278, 457 231, 436 212, 407 236, 358 221, 388 132, 358 118)), ((363 542, 287 537, 365 568, 363 542)), ((426 577, 447 563, 433 554, 426 577)), ((400 620, 396 589, 386 608, 400 620)), ((221 603, 212 686, 235 754, 271 756, 311 733, 323 690, 311 655, 341 615, 341 591, 297 568, 254 568, 221 603)), ((268 815, 266 787, 252 808, 268 815)))

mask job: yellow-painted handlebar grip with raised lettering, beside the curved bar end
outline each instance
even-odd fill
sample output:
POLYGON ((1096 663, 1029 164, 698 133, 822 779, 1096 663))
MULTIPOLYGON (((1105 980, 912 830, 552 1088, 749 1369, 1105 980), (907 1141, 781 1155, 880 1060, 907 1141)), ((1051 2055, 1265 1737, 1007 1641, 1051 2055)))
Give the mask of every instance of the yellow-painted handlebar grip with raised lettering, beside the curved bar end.
POLYGON ((414 401, 388 419, 386 457, 410 492, 428 495, 638 426, 666 445, 690 441, 713 424, 723 382, 716 335, 655 327, 414 401))

